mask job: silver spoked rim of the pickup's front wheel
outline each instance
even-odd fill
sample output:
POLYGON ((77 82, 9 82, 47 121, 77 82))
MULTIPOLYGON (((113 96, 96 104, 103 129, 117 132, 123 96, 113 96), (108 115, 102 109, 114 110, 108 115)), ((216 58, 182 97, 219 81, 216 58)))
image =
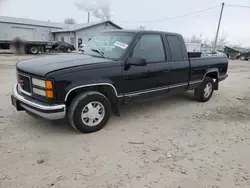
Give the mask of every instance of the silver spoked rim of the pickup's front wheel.
POLYGON ((84 106, 81 117, 82 122, 90 127, 98 125, 104 118, 105 108, 102 103, 93 101, 84 106))

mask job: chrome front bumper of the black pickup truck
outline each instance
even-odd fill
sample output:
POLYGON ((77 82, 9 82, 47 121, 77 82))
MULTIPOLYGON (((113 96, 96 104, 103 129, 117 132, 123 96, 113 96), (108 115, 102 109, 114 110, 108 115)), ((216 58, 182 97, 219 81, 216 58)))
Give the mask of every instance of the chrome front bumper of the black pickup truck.
POLYGON ((66 106, 64 104, 48 105, 20 95, 17 91, 17 84, 13 87, 11 102, 18 111, 26 110, 49 120, 63 119, 66 115, 66 106))

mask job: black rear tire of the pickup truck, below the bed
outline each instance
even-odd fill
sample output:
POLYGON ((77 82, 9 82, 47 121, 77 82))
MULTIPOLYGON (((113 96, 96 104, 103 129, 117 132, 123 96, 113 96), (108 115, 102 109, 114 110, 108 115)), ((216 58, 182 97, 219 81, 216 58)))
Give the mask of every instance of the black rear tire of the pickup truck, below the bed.
POLYGON ((195 97, 199 102, 207 102, 212 97, 214 92, 214 80, 206 77, 199 88, 195 89, 195 97), (205 92, 207 86, 211 85, 211 91, 205 92), (209 94, 208 94, 209 93, 209 94))

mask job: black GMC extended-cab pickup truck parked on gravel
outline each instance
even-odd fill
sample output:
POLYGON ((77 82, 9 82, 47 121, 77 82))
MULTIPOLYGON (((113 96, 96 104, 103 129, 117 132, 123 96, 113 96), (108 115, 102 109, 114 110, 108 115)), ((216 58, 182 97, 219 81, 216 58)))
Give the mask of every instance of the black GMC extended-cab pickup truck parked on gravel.
POLYGON ((131 98, 194 90, 208 101, 226 79, 228 60, 189 58, 183 37, 158 31, 103 32, 83 54, 17 63, 12 104, 50 120, 67 118, 78 131, 103 128, 131 98))

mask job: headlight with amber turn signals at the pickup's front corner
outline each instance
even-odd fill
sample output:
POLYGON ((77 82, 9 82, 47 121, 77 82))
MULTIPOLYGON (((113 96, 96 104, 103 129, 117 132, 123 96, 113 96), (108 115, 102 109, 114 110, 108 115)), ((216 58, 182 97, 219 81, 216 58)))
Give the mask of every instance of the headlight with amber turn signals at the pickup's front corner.
POLYGON ((53 83, 51 80, 40 80, 36 78, 32 78, 32 85, 33 85, 33 93, 41 96, 45 96, 47 98, 53 98, 53 83), (36 86, 40 87, 37 88, 36 86))

